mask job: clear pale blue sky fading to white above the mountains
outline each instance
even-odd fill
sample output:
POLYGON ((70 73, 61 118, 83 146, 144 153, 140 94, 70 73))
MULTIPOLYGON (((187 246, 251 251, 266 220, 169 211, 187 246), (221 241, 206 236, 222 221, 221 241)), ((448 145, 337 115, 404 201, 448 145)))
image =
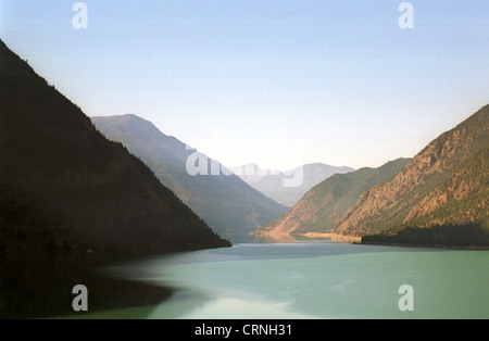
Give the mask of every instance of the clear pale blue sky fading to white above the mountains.
POLYGON ((226 166, 412 157, 489 103, 489 2, 1 0, 0 37, 88 116, 226 166), (410 13, 408 13, 410 14, 410 13))

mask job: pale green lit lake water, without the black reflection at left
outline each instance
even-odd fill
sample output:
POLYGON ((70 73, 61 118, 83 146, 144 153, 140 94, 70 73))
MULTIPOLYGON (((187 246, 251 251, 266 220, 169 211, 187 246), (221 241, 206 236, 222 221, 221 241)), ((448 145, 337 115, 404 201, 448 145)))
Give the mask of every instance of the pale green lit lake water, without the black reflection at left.
POLYGON ((489 252, 336 242, 249 243, 153 257, 105 274, 170 299, 86 317, 488 318, 489 252), (409 285, 412 292, 399 288, 409 285), (409 300, 409 301, 405 301, 409 300), (399 302, 410 302, 401 311, 399 302))

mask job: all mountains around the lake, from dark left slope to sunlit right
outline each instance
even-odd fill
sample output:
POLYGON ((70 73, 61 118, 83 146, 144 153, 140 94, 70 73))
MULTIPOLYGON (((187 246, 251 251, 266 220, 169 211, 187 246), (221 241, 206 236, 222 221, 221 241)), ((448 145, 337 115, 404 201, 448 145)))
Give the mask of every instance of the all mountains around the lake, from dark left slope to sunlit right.
POLYGON ((259 174, 235 168, 239 178, 212 174, 228 169, 135 115, 91 122, 1 41, 0 62, 0 261, 218 248, 230 243, 216 232, 241 241, 254 230, 489 244, 489 105, 413 160, 278 174, 251 165, 259 174), (208 174, 189 174, 192 155, 208 174), (284 186, 298 172, 301 186, 284 186))

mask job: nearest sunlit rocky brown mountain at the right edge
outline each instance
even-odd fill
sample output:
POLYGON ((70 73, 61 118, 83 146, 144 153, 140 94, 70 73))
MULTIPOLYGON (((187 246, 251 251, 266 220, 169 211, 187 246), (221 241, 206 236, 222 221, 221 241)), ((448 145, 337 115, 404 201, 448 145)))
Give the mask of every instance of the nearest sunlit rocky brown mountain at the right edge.
POLYGON ((398 241, 402 236, 411 243, 489 244, 488 129, 486 105, 431 141, 392 179, 365 191, 334 231, 398 241))

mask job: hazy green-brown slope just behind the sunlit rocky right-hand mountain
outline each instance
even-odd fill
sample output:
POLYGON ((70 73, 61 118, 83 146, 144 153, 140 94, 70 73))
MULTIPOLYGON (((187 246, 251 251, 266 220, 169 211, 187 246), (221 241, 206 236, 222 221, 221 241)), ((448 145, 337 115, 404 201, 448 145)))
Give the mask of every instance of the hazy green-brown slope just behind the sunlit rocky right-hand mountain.
POLYGON ((347 174, 335 174, 314 186, 292 209, 259 229, 258 233, 330 233, 335 224, 356 204, 365 190, 388 180, 409 162, 410 159, 398 159, 378 168, 365 167, 347 174))

